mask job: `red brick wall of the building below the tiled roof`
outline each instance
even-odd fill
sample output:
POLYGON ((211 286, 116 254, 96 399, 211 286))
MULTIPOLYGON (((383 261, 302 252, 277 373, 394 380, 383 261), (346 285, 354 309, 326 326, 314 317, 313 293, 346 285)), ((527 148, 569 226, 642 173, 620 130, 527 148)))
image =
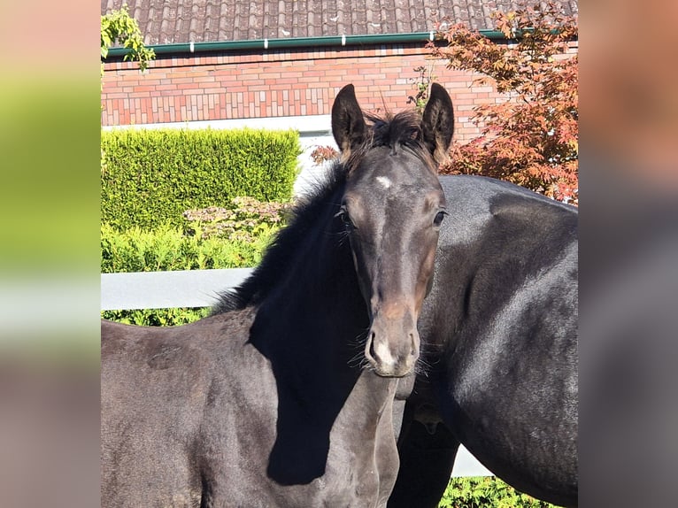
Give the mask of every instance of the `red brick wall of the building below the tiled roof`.
MULTIPOLYGON (((347 83, 355 85, 363 109, 385 103, 399 111, 410 107, 407 96, 416 93, 418 77, 413 69, 430 64, 426 55, 416 44, 158 57, 145 73, 129 62, 106 63, 101 121, 117 126, 329 114, 347 83)), ((470 73, 448 70, 442 61, 433 74, 451 94, 456 139, 472 139, 478 131, 468 121, 471 109, 497 94, 474 87, 470 73)))

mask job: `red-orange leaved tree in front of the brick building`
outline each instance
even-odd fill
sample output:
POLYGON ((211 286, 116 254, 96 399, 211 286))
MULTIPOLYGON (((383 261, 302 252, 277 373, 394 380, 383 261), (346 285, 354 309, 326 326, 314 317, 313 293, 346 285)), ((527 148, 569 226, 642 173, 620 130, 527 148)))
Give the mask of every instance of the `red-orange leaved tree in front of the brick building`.
POLYGON ((506 42, 493 42, 462 25, 439 35, 447 46, 428 48, 453 69, 480 74, 505 95, 501 104, 474 107, 482 135, 455 142, 441 173, 482 174, 577 203, 577 55, 567 53, 577 20, 552 2, 497 12, 506 42))

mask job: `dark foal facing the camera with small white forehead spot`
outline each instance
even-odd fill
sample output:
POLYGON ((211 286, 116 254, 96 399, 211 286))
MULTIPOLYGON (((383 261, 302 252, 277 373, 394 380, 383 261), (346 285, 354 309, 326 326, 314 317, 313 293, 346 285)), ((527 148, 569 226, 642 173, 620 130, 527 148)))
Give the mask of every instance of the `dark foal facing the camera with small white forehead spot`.
MULTIPOLYGON (((452 104, 367 121, 336 96, 341 160, 211 317, 102 324, 104 506, 384 506, 398 378, 420 356, 452 104)), ((397 418, 396 418, 397 419, 397 418)))

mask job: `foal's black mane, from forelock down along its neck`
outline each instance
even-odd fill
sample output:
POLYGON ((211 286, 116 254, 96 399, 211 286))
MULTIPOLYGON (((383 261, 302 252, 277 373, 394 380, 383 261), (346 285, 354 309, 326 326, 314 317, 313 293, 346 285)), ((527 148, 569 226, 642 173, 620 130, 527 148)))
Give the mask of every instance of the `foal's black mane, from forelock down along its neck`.
POLYGON ((392 149, 403 147, 419 154, 420 158, 430 161, 428 151, 421 141, 421 117, 415 110, 407 110, 383 116, 364 113, 369 125, 365 142, 350 157, 343 161, 335 160, 327 172, 325 181, 320 181, 308 197, 299 200, 291 212, 291 219, 274 237, 266 248, 264 258, 254 269, 250 277, 235 289, 220 293, 220 299, 212 309, 212 314, 244 309, 249 305, 261 304, 272 289, 281 282, 291 259, 297 254, 297 247, 304 241, 315 220, 327 204, 327 200, 336 189, 342 187, 351 170, 358 165, 368 150, 388 146, 392 149))

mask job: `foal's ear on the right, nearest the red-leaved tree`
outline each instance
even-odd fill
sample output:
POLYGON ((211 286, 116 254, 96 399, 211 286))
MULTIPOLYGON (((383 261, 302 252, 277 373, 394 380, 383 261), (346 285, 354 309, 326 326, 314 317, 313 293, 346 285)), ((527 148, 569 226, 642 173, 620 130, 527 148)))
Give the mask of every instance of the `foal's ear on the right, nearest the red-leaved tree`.
POLYGON ((443 163, 454 133, 454 110, 450 95, 438 83, 431 85, 428 103, 421 120, 423 141, 435 162, 443 163))

